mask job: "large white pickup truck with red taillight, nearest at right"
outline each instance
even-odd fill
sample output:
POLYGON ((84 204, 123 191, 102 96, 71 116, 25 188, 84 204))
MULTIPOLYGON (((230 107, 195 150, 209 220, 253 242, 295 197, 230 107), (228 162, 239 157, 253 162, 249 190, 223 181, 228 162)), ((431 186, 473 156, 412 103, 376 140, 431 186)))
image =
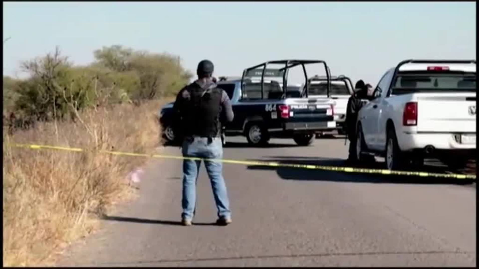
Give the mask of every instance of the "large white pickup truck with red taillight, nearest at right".
POLYGON ((476 61, 402 61, 380 79, 356 126, 356 160, 381 156, 396 170, 431 157, 464 167, 476 156, 476 61))

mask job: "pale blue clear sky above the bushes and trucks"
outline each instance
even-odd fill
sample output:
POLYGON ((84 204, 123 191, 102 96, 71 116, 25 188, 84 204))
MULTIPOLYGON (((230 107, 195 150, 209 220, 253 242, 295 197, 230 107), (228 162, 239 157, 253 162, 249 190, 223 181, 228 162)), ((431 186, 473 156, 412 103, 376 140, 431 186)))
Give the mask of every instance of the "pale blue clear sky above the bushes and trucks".
POLYGON ((179 55, 192 72, 207 58, 218 76, 267 60, 322 59, 333 74, 376 85, 406 58, 476 59, 476 3, 3 2, 9 36, 3 74, 11 76, 56 45, 88 64, 95 49, 118 44, 179 55))

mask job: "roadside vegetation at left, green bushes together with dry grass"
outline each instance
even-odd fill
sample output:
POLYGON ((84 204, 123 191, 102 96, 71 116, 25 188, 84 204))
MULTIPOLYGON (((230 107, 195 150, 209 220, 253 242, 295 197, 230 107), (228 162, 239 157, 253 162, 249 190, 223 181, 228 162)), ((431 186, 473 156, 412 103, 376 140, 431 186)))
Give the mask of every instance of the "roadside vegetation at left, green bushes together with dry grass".
POLYGON ((75 66, 57 48, 3 77, 3 264, 48 265, 94 231, 97 216, 134 196, 126 176, 160 145, 156 113, 191 78, 177 56, 119 45, 75 66), (11 143, 80 147, 32 150, 11 143))

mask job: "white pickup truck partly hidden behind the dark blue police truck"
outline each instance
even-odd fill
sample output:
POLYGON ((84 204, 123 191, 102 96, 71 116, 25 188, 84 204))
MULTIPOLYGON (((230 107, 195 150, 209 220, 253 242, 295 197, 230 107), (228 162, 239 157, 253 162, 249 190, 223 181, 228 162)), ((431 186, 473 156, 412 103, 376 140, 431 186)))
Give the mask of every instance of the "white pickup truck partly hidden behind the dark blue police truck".
MULTIPOLYGON (((313 98, 327 98, 328 81, 326 76, 314 76, 308 79, 308 96, 313 98)), ((348 99, 354 93, 351 79, 343 75, 331 76, 330 97, 334 101, 334 121, 338 134, 345 134, 346 108, 348 99)), ((303 91, 306 88, 303 86, 303 91)))

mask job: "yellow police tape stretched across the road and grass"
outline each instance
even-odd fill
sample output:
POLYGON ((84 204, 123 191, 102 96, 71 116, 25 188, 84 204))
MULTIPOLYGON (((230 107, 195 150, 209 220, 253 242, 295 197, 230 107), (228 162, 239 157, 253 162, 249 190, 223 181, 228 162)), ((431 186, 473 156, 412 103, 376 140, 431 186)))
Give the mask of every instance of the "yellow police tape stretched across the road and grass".
MULTIPOLYGON (((64 146, 48 146, 48 145, 33 145, 33 144, 11 144, 14 147, 23 147, 30 149, 56 149, 64 151, 83 152, 82 148, 64 147, 64 146)), ((249 166, 267 166, 267 167, 286 167, 286 168, 304 168, 304 169, 318 169, 335 172, 348 172, 348 173, 366 173, 366 174, 382 174, 382 175, 399 175, 399 176, 418 176, 418 177, 432 177, 432 178, 452 178, 452 179, 476 179, 476 175, 461 175, 461 174, 441 174, 430 172, 417 172, 417 171, 398 171, 387 169, 372 169, 372 168, 353 168, 353 167, 337 167, 337 166, 322 166, 322 165, 306 165, 306 164, 286 164, 278 162, 265 162, 265 161, 248 161, 248 160, 230 160, 230 159, 207 159, 198 157, 183 157, 175 155, 160 155, 160 154, 143 154, 143 153, 131 153, 120 152, 110 150, 99 150, 98 152, 104 154, 118 155, 118 156, 132 156, 132 157, 150 157, 150 158, 163 158, 163 159, 189 159, 189 160, 205 160, 230 164, 240 164, 249 166)))

